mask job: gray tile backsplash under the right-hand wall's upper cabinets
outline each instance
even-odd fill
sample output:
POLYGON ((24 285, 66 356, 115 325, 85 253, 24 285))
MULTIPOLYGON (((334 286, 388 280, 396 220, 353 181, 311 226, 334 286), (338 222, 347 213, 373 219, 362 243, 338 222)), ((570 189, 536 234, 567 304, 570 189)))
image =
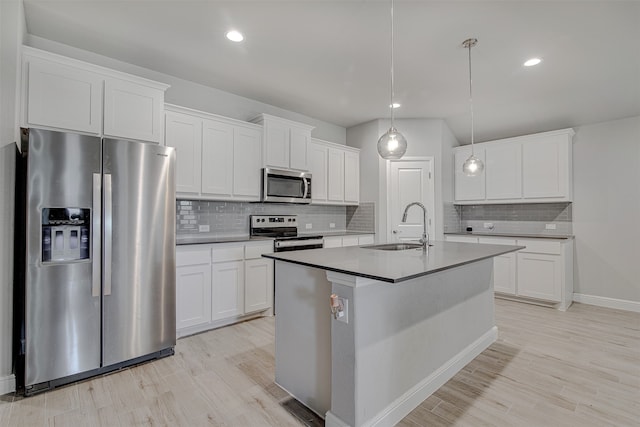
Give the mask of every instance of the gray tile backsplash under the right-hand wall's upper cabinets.
POLYGON ((544 235, 573 234, 573 213, 569 202, 504 205, 455 205, 445 215, 446 232, 474 231, 544 235), (486 228, 491 223, 493 228, 486 228))

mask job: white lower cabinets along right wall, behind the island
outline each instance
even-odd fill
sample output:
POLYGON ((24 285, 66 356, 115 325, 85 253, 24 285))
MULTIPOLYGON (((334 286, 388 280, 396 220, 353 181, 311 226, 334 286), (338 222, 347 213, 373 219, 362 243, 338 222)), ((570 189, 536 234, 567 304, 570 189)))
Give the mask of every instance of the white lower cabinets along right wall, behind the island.
POLYGON ((525 246, 493 258, 497 296, 553 305, 566 310, 573 301, 573 240, 445 236, 447 242, 525 246))

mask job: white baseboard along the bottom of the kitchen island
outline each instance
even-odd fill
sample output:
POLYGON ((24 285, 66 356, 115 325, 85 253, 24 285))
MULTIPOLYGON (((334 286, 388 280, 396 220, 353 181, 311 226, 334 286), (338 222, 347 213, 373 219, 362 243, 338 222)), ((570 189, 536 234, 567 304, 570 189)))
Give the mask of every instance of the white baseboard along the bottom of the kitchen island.
MULTIPOLYGON (((434 373, 420 381, 372 419, 364 422, 362 427, 392 427, 406 417, 427 397, 453 378, 462 368, 475 359, 498 339, 498 328, 494 326, 480 338, 468 345, 460 353, 449 359, 434 373)), ((344 421, 328 411, 325 416, 325 427, 349 427, 344 421)))

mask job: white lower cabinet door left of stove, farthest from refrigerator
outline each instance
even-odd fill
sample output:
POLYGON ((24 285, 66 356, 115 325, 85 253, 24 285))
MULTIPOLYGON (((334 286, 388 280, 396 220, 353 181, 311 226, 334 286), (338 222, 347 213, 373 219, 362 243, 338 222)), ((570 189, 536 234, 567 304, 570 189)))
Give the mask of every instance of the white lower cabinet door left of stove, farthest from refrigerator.
POLYGON ((244 263, 244 312, 265 310, 273 300, 273 261, 250 259, 244 263))

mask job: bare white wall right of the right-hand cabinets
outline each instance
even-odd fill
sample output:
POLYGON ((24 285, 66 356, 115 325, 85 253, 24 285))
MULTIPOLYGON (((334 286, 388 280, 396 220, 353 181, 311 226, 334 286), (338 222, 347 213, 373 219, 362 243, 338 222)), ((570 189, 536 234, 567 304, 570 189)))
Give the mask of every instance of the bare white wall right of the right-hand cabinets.
POLYGON ((640 116, 573 144, 574 292, 640 303, 640 116))

